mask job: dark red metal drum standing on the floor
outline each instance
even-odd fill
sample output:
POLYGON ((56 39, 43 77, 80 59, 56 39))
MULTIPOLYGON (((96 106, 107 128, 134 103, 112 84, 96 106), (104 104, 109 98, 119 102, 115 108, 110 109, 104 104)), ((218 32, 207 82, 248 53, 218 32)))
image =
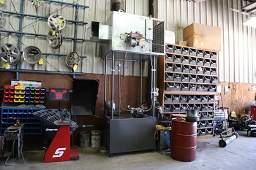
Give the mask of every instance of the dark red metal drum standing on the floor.
POLYGON ((170 141, 171 158, 183 162, 194 161, 197 147, 197 123, 173 118, 170 141))

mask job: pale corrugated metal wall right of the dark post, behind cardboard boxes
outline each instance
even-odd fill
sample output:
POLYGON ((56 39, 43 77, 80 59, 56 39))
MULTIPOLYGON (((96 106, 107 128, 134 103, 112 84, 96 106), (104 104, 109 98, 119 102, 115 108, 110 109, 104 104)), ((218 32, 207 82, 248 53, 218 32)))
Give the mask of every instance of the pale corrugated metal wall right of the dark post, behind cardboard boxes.
POLYGON ((255 83, 255 28, 243 26, 246 16, 230 9, 241 10, 245 4, 244 0, 158 0, 156 18, 165 20, 166 29, 175 32, 176 41, 183 39, 184 27, 191 23, 221 27, 219 80, 255 83))

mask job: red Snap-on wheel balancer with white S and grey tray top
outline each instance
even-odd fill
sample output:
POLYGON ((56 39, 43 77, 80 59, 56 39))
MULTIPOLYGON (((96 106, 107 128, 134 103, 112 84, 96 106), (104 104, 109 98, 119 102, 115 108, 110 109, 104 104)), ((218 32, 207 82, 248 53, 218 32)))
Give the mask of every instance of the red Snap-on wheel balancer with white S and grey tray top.
POLYGON ((33 112, 32 115, 45 125, 48 142, 45 152, 45 162, 60 162, 79 159, 79 152, 70 148, 70 135, 76 128, 92 125, 77 125, 69 119, 67 109, 44 109, 33 112))

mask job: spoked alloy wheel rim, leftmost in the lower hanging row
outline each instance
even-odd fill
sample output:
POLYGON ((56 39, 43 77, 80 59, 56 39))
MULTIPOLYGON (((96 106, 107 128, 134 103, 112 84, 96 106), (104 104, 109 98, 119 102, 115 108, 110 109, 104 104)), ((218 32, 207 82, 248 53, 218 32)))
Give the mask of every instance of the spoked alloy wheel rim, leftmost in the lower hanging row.
POLYGON ((0 57, 2 61, 15 65, 20 61, 20 50, 11 44, 1 45, 0 57))

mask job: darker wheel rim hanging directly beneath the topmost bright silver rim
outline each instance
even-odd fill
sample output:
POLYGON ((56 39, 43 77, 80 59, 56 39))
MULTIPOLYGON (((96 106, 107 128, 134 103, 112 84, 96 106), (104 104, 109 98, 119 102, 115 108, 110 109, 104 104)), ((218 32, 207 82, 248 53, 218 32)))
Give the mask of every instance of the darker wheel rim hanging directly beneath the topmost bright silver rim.
POLYGON ((62 35, 57 28, 51 28, 47 35, 48 46, 57 49, 62 45, 62 35))

